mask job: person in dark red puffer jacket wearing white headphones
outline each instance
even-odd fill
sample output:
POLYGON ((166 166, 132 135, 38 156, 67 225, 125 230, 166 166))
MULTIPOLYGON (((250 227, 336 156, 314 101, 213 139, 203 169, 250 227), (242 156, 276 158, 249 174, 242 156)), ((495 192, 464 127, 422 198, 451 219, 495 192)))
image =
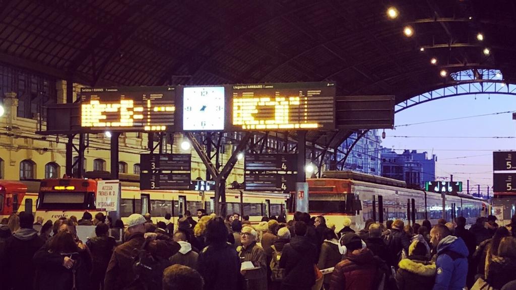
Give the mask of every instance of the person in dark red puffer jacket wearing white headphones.
POLYGON ((385 281, 389 269, 373 255, 357 234, 347 233, 341 237, 339 262, 331 275, 330 290, 376 290, 385 281))

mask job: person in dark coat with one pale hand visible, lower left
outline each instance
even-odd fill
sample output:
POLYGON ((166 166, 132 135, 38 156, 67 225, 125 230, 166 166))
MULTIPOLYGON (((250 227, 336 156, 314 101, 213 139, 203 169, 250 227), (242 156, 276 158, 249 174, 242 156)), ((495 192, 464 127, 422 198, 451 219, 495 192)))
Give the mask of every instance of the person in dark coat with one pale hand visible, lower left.
POLYGON ((33 258, 38 271, 37 290, 89 290, 91 255, 69 231, 60 231, 33 258))

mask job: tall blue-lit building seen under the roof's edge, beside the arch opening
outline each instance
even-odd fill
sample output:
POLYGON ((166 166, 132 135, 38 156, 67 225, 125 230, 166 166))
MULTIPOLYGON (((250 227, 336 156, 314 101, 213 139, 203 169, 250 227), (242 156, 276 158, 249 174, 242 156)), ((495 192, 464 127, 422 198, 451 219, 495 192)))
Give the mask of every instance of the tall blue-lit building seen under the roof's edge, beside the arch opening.
MULTIPOLYGON (((341 152, 347 152, 356 139, 357 134, 355 133, 341 144, 337 160, 344 158, 344 153, 341 152)), ((343 169, 381 175, 381 148, 381 137, 378 135, 378 130, 369 130, 352 148, 343 169)), ((341 167, 339 166, 337 169, 341 170, 341 167)))

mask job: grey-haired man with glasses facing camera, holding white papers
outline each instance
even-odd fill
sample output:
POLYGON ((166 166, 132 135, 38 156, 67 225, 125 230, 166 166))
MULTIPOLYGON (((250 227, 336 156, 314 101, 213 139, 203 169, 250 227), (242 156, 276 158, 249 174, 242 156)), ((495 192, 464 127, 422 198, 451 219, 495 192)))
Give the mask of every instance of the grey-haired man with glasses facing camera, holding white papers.
POLYGON ((251 227, 240 233, 242 246, 238 251, 240 262, 251 262, 254 269, 240 270, 246 280, 247 290, 267 290, 267 259, 262 247, 256 245, 258 234, 251 227))

